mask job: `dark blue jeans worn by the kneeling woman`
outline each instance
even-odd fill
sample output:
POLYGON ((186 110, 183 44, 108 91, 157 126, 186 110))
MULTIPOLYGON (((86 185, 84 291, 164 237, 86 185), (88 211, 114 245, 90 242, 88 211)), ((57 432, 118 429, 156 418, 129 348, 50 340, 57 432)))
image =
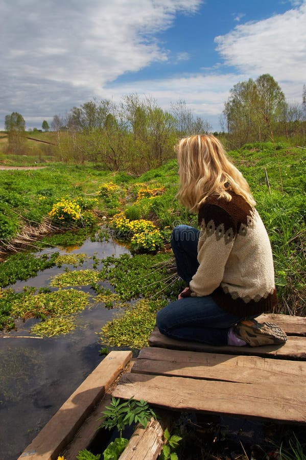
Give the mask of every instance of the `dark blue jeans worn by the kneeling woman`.
MULTIPOLYGON (((199 235, 200 232, 189 225, 178 225, 171 235, 177 272, 186 284, 190 283, 199 266, 199 235)), ((157 312, 156 325, 168 337, 227 345, 229 328, 243 319, 246 316, 228 313, 216 304, 211 295, 204 295, 171 302, 157 312)))

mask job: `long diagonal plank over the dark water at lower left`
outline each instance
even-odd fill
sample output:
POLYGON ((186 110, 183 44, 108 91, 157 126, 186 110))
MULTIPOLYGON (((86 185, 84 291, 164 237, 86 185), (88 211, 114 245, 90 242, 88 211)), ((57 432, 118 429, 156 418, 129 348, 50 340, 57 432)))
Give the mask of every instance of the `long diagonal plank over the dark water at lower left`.
POLYGON ((19 459, 56 459, 131 357, 130 351, 110 352, 43 427, 19 459))

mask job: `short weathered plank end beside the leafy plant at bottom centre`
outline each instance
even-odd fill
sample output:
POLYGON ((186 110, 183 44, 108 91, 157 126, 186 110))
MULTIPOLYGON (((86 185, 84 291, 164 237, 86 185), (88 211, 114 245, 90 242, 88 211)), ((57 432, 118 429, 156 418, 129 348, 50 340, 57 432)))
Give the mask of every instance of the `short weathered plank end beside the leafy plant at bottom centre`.
POLYGON ((163 431, 169 428, 174 418, 173 412, 159 411, 158 420, 152 418, 146 428, 139 426, 119 460, 155 460, 164 444, 163 431))

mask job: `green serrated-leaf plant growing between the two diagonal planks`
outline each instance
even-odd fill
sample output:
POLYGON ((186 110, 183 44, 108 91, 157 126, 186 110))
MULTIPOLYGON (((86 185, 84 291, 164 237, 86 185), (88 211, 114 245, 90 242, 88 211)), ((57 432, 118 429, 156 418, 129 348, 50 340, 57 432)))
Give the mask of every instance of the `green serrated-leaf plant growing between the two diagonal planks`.
POLYGON ((140 424, 146 428, 151 417, 156 418, 154 411, 149 407, 147 401, 130 398, 123 401, 119 398, 112 397, 111 403, 103 412, 106 419, 102 422, 100 428, 113 429, 119 431, 119 438, 111 442, 103 452, 104 460, 117 460, 124 451, 129 440, 122 437, 123 430, 127 426, 140 424))

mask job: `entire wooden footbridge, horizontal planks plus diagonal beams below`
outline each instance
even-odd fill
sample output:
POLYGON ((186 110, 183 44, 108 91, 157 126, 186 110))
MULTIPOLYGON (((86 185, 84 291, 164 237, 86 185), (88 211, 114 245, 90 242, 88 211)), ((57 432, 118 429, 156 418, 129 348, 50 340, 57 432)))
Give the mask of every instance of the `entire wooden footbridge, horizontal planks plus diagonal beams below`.
POLYGON ((144 399, 163 410, 170 409, 168 418, 159 422, 152 419, 145 430, 136 430, 121 460, 157 458, 164 426, 174 411, 306 424, 306 317, 262 315, 257 319, 278 324, 287 333, 287 342, 282 346, 216 347, 173 340, 155 329, 150 347, 140 351, 134 362, 130 352, 111 352, 82 384, 87 382, 87 387, 94 388, 88 393, 81 385, 65 403, 68 406, 62 406, 21 457, 30 454, 30 460, 53 460, 64 452, 66 460, 75 460, 78 450, 89 445, 101 424, 97 419, 110 396, 144 399), (111 385, 129 361, 128 369, 111 385), (98 368, 99 378, 97 374, 95 378, 98 368), (88 383, 90 378, 93 383, 88 383), (88 397, 95 402, 88 404, 88 397), (73 401, 78 401, 77 407, 73 401), (74 407, 70 411, 74 429, 67 427, 65 431, 68 407, 74 407), (61 427, 60 435, 56 426, 61 427), (47 441, 51 443, 48 447, 47 441))

